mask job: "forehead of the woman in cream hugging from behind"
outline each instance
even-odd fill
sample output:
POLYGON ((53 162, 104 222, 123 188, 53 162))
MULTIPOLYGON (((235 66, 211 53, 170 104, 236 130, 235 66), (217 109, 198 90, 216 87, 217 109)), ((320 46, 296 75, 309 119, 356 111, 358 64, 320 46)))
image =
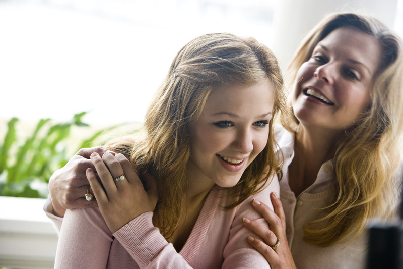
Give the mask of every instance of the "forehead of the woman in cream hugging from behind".
POLYGON ((358 29, 337 28, 319 41, 317 46, 334 51, 348 61, 365 65, 372 74, 378 69, 381 46, 373 36, 358 29))

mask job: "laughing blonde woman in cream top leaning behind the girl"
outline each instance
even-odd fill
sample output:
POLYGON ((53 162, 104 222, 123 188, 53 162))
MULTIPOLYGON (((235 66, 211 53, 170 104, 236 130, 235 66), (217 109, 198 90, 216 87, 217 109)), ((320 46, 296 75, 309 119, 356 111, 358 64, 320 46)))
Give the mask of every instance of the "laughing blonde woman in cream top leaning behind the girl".
POLYGON ((254 202, 271 230, 244 220, 272 268, 365 268, 369 221, 391 220, 399 201, 401 51, 379 21, 351 13, 328 16, 297 49, 289 113, 275 130, 278 216, 254 202))

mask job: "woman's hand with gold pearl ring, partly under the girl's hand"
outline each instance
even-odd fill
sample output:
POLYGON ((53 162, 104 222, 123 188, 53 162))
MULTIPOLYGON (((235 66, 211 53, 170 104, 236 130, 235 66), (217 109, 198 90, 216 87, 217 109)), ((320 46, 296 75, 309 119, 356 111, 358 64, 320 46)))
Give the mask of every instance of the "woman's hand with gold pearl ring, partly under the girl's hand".
POLYGON ((87 168, 94 168, 90 160, 93 152, 100 156, 105 152, 115 154, 103 147, 80 149, 64 167, 50 177, 49 193, 55 215, 63 217, 66 209, 97 206, 95 199, 87 201, 84 197, 89 186, 85 171, 87 168))

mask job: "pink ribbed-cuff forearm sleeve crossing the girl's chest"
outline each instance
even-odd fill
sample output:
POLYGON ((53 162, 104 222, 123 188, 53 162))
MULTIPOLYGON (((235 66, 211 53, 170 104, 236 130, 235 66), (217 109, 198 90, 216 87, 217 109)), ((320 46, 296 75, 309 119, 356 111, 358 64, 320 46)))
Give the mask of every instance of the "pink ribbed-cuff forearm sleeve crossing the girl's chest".
POLYGON ((191 268, 152 222, 153 212, 141 214, 113 235, 140 268, 191 268))

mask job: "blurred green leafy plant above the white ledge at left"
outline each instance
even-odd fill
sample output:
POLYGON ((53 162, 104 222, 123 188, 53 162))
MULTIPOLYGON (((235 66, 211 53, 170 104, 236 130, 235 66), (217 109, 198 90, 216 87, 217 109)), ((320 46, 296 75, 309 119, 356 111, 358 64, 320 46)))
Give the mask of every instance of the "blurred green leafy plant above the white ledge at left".
MULTIPOLYGON (((45 198, 50 176, 71 158, 70 153, 66 153, 66 148, 70 146, 68 138, 72 126, 89 126, 82 122, 85 114, 86 112, 76 114, 68 122, 53 125, 50 119, 42 119, 25 141, 16 132, 18 119, 11 119, 4 142, 0 145, 0 195, 45 198)), ((87 139, 78 137, 80 148, 88 146, 102 134, 118 126, 121 124, 94 131, 87 139)))

